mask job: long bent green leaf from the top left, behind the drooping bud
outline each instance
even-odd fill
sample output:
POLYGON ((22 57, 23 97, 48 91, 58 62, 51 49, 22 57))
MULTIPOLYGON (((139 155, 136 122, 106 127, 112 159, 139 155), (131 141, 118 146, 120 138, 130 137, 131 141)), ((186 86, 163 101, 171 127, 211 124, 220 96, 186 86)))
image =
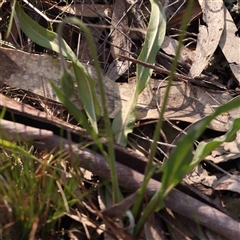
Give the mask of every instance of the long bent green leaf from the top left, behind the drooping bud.
MULTIPOLYGON (((49 31, 33 21, 21 9, 18 3, 16 3, 16 14, 18 16, 20 28, 32 41, 42 47, 49 48, 58 53, 60 52, 58 35, 55 32, 49 31)), ((98 132, 97 116, 100 116, 101 109, 95 91, 96 82, 86 71, 85 67, 77 60, 74 52, 63 39, 61 39, 61 44, 63 56, 69 58, 73 62, 75 74, 77 72, 75 76, 78 83, 80 99, 82 100, 90 123, 94 127, 94 130, 98 132)), ((66 91, 66 94, 69 96, 72 93, 72 90, 70 90, 73 86, 72 78, 68 78, 66 82, 61 82, 61 84, 64 84, 63 91, 66 91), (69 86, 67 86, 68 84, 69 86)))

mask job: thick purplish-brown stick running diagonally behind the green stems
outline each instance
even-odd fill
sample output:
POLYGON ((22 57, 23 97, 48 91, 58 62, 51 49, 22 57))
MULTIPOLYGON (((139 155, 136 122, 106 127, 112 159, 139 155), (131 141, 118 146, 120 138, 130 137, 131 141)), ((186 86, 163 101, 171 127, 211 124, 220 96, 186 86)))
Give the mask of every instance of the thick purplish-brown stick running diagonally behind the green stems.
MULTIPOLYGON (((23 132, 23 129, 25 127, 23 124, 15 123, 14 131, 14 128, 11 127, 11 125, 2 124, 4 123, 4 121, 5 120, 0 121, 0 132, 2 133, 3 130, 5 130, 9 133, 9 135, 2 135, 2 137, 16 137, 18 136, 18 129, 20 132, 23 132)), ((37 131, 39 131, 39 129, 29 132, 28 137, 33 133, 33 140, 38 139, 38 137, 36 136, 37 131)), ((79 150, 79 145, 76 143, 71 143, 71 146, 69 146, 69 140, 63 139, 54 134, 46 134, 45 138, 43 138, 41 134, 40 136, 40 142, 39 140, 34 141, 34 145, 36 147, 52 150, 57 149, 60 146, 61 150, 70 150, 71 154, 74 155, 73 159, 70 160, 76 161, 76 159, 78 159, 79 167, 85 168, 86 170, 91 171, 93 174, 96 174, 103 179, 110 178, 109 166, 102 155, 93 152, 87 148, 84 150, 79 150)), ((140 174, 118 162, 116 163, 116 168, 119 185, 121 187, 131 191, 136 191, 141 187, 144 180, 143 174, 140 174)), ((149 197, 152 197, 160 187, 160 182, 154 179, 150 179, 146 189, 147 195, 149 197)), ((170 192, 170 194, 166 197, 165 204, 166 207, 193 221, 197 219, 199 224, 219 233, 220 235, 228 239, 240 239, 239 222, 235 221, 234 219, 230 218, 219 210, 212 208, 176 189, 173 189, 172 192, 170 192)))

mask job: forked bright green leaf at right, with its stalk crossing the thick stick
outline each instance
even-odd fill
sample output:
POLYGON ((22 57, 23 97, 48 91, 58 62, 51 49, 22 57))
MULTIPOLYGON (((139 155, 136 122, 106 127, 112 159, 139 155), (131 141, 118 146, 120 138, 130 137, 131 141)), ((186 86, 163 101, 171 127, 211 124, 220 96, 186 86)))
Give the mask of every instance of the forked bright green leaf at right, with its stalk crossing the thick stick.
MULTIPOLYGON (((239 103, 240 96, 218 107, 212 115, 200 121, 189 131, 187 135, 179 139, 179 141, 176 143, 177 147, 172 150, 169 158, 161 169, 161 171, 163 172, 162 186, 154 194, 149 204, 144 209, 144 212, 136 225, 135 235, 140 231, 147 216, 149 216, 153 211, 159 211, 164 207, 164 199, 169 194, 169 192, 183 179, 186 174, 188 174, 193 169, 194 166, 196 166, 196 164, 200 161, 202 157, 204 157, 205 154, 207 154, 207 152, 211 151, 212 149, 214 149, 214 147, 217 146, 215 143, 213 145, 210 144, 211 147, 207 147, 206 149, 200 146, 200 149, 198 150, 199 154, 197 153, 199 156, 197 156, 195 158, 195 161, 192 162, 192 145, 194 141, 201 136, 209 123, 218 115, 224 112, 231 111, 234 108, 240 109, 239 103), (203 152, 204 154, 201 154, 203 152)), ((220 142, 222 142, 223 140, 233 140, 235 133, 240 128, 239 124, 239 119, 235 119, 232 127, 225 134, 225 137, 220 140, 220 142)), ((219 139, 217 141, 219 141, 219 139)))

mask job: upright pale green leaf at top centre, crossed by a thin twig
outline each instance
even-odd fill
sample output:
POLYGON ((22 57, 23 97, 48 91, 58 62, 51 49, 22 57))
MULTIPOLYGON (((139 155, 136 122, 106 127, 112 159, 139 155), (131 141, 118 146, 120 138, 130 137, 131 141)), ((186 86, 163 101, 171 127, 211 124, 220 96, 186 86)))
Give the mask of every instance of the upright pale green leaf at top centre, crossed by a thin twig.
MULTIPOLYGON (((139 60, 154 64, 156 55, 162 45, 166 32, 166 18, 161 3, 158 0, 150 0, 151 15, 148 31, 144 41, 139 60)), ((131 100, 122 107, 113 120, 112 129, 115 133, 116 142, 125 146, 127 135, 132 132, 135 120, 138 95, 149 83, 152 69, 137 64, 137 84, 131 100)))

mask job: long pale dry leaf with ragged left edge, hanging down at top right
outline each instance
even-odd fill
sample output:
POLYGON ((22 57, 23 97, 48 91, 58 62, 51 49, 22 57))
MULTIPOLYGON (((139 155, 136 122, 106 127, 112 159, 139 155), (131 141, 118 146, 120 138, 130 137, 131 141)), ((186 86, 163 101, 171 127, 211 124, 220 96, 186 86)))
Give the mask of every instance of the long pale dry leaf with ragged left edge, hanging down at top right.
POLYGON ((223 1, 199 0, 206 25, 199 26, 195 59, 190 69, 191 77, 199 76, 215 52, 224 28, 223 1))

